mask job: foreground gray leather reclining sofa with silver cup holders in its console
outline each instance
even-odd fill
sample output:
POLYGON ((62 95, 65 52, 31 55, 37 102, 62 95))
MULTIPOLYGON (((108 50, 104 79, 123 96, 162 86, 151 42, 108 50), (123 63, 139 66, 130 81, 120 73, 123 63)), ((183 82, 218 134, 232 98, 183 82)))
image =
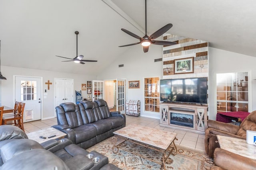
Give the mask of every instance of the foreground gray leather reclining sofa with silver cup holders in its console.
POLYGON ((39 144, 22 129, 0 126, 0 170, 120 170, 108 157, 88 152, 69 139, 39 144), (96 161, 98 160, 98 162, 96 161))

